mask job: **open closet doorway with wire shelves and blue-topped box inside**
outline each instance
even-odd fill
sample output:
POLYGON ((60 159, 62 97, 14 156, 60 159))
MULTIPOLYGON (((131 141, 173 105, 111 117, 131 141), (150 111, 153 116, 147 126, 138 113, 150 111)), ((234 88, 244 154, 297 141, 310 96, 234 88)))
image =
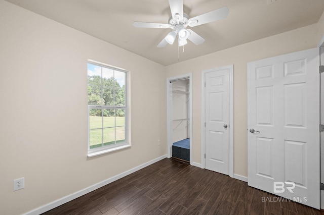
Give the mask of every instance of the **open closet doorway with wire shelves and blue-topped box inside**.
POLYGON ((192 93, 190 76, 168 79, 168 156, 191 163, 192 93))

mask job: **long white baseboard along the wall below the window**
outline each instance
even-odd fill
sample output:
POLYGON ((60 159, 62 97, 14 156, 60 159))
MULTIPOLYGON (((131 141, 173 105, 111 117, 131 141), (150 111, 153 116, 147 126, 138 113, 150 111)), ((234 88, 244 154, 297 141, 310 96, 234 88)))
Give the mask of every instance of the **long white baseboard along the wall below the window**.
POLYGON ((57 206, 60 206, 62 204, 65 204, 66 202, 69 202, 69 201, 71 201, 73 199, 76 199, 76 198, 78 198, 80 196, 83 196, 83 195, 85 195, 87 193, 90 193, 90 192, 92 192, 92 191, 94 191, 94 190, 96 190, 96 189, 98 189, 100 187, 103 187, 103 186, 105 186, 107 184, 110 184, 111 182, 114 182, 114 181, 116 181, 118 179, 121 179, 121 178, 123 178, 125 176, 128 176, 128 175, 130 175, 130 174, 132 174, 132 173, 134 173, 134 172, 136 172, 136 171, 138 171, 140 169, 143 169, 143 168, 145 168, 145 167, 147 167, 147 166, 149 166, 151 164, 154 164, 154 163, 158 162, 159 160, 164 159, 166 157, 167 157, 167 155, 163 155, 163 156, 157 157, 157 158, 155 158, 153 160, 150 160, 149 162, 147 162, 145 164, 142 164, 140 166, 137 166, 137 167, 135 167, 135 168, 133 168, 131 170, 128 170, 128 171, 126 171, 124 173, 120 173, 120 174, 118 174, 116 176, 113 176, 113 177, 111 177, 109 179, 106 179, 106 180, 104 180, 102 182, 99 182, 97 184, 94 184, 94 185, 92 185, 90 187, 87 187, 87 188, 85 188, 83 190, 77 191, 77 192, 72 193, 72 194, 70 194, 68 196, 65 196, 63 198, 60 198, 58 200, 55 200, 55 201, 53 201, 51 203, 48 203, 46 205, 43 205, 43 206, 38 207, 36 209, 33 209, 33 210, 31 210, 31 211, 29 211, 29 212, 27 212, 25 214, 26 215, 27 214, 28 215, 34 215, 34 214, 36 215, 36 214, 44 213, 44 212, 46 212, 48 210, 51 210, 51 209, 53 209, 53 208, 55 208, 57 206))

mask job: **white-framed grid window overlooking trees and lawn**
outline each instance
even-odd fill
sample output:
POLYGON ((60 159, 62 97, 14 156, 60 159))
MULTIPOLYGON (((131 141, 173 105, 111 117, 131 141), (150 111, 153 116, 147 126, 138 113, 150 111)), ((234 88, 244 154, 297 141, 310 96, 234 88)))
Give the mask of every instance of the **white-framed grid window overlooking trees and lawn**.
POLYGON ((88 156, 128 145, 127 72, 88 63, 88 156))

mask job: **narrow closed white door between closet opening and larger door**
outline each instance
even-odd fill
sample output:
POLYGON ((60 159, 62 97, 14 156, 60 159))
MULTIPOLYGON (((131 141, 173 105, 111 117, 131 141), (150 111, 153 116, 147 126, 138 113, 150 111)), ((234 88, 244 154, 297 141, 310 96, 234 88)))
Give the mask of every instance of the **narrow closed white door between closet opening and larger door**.
POLYGON ((229 173, 229 69, 205 73, 205 168, 229 173))

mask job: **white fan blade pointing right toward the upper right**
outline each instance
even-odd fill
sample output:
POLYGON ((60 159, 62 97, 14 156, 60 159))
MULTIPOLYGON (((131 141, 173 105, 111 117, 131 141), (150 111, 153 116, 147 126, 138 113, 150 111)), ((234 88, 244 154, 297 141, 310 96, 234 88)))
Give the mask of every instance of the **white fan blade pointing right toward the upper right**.
POLYGON ((190 18, 188 20, 188 25, 190 27, 194 27, 197 25, 203 25, 217 20, 226 19, 228 13, 229 10, 227 7, 219 8, 206 14, 201 14, 199 16, 190 18))

